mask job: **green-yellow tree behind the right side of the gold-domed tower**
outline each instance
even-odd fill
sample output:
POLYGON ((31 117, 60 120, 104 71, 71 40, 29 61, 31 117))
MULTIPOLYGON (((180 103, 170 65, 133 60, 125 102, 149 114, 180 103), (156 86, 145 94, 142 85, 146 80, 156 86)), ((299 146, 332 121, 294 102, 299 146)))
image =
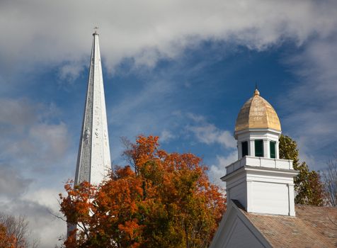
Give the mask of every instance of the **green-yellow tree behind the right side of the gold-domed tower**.
POLYGON ((310 171, 305 162, 299 163, 297 143, 287 135, 280 136, 280 159, 292 159, 292 165, 299 174, 295 177, 295 203, 304 205, 323 205, 324 185, 316 171, 310 171))

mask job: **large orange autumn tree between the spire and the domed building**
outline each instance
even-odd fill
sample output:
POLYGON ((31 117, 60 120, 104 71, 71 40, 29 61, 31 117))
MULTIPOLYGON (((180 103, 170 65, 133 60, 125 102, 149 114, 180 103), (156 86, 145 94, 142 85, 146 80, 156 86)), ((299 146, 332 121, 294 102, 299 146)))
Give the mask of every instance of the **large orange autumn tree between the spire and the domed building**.
POLYGON ((207 247, 225 198, 201 159, 160 150, 152 136, 137 137, 127 154, 132 167, 115 167, 100 186, 66 184, 61 211, 79 225, 64 245, 207 247))

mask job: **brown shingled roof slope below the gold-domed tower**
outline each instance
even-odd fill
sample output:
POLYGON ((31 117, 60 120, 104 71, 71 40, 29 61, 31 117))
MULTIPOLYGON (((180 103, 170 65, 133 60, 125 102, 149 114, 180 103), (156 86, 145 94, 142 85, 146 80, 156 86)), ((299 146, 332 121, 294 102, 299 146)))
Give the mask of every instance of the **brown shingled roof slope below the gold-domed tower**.
POLYGON ((296 217, 247 213, 273 247, 337 247, 337 208, 295 205, 296 217))

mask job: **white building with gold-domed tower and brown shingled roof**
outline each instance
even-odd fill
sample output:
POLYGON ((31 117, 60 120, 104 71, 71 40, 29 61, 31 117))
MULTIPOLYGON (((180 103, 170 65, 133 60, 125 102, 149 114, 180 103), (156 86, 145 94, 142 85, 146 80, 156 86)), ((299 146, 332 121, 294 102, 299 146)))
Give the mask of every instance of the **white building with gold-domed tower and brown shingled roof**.
POLYGON ((295 205, 292 160, 280 159, 281 125, 258 89, 241 108, 238 160, 226 167, 227 212, 211 248, 337 247, 337 208, 295 205))

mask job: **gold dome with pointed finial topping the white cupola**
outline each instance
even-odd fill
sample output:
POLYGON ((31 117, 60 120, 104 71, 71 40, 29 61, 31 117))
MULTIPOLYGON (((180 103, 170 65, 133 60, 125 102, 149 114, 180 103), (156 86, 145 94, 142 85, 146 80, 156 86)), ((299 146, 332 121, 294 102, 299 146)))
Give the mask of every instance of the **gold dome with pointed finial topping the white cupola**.
POLYGON ((253 97, 244 103, 236 118, 235 132, 247 128, 271 128, 281 131, 278 114, 273 106, 260 96, 258 89, 254 91, 253 97))

